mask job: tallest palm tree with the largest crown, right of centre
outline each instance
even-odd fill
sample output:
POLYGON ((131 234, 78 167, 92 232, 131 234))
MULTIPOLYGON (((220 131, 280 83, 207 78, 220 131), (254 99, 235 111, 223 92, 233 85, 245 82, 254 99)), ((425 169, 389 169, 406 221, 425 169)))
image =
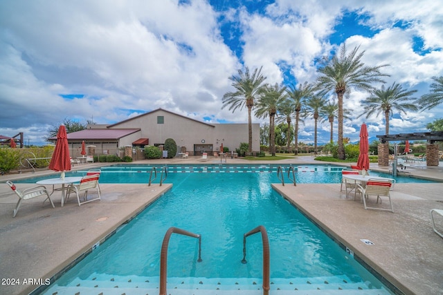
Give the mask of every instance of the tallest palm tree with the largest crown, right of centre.
POLYGON ((318 69, 320 77, 317 88, 325 91, 334 91, 338 98, 338 159, 345 160, 345 146, 343 144, 343 96, 349 96, 352 88, 371 91, 372 83, 383 82, 381 76, 388 76, 380 72, 380 68, 388 65, 365 66, 361 57, 365 51, 357 54, 359 47, 349 54, 346 47, 341 46, 338 55, 327 61, 323 68, 318 69))

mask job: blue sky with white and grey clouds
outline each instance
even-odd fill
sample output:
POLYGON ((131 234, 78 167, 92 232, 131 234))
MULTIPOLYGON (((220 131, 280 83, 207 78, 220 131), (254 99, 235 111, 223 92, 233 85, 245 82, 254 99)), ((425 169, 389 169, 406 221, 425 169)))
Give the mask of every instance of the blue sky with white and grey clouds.
MULTIPOLYGON (((443 7, 434 0, 113 3, 0 1, 1 135, 24 132, 26 142, 44 144, 66 118, 111 124, 155 108, 245 123, 246 110, 221 109, 233 90, 228 77, 262 66, 271 84, 314 82, 316 61, 341 44, 360 46, 365 64, 390 64, 386 85, 417 97, 443 75, 443 7)), ((359 115, 367 96, 352 91, 345 107, 359 115)), ((427 131, 442 111, 395 113, 390 133, 427 131)), ((370 137, 384 134, 383 117, 357 115, 345 121, 345 137, 358 140, 363 121, 370 137)), ((313 142, 314 121, 299 132, 313 142)), ((329 124, 318 132, 318 142, 329 140, 329 124)))

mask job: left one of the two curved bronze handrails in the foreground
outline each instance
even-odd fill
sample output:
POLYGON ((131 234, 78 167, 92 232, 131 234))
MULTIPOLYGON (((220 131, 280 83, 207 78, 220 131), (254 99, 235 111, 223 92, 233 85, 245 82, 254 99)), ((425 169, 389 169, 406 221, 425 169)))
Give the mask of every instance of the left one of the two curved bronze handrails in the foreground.
POLYGON ((199 239, 199 258, 197 259, 198 263, 201 263, 201 235, 192 234, 190 231, 185 231, 183 229, 179 229, 177 227, 170 227, 168 231, 166 231, 165 238, 163 238, 163 243, 161 244, 161 253, 160 253, 160 295, 166 294, 166 277, 168 276, 168 244, 172 234, 181 234, 183 236, 190 236, 192 238, 199 239))

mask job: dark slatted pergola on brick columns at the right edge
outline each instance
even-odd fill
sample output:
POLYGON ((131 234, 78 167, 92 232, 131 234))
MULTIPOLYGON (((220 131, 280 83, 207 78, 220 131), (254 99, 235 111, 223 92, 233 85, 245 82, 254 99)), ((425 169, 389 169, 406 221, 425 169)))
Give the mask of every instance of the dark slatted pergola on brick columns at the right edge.
POLYGON ((386 142, 405 140, 426 140, 426 166, 438 166, 439 151, 436 142, 443 141, 443 131, 400 133, 392 135, 377 135, 379 144, 379 165, 389 165, 389 146, 386 142))

